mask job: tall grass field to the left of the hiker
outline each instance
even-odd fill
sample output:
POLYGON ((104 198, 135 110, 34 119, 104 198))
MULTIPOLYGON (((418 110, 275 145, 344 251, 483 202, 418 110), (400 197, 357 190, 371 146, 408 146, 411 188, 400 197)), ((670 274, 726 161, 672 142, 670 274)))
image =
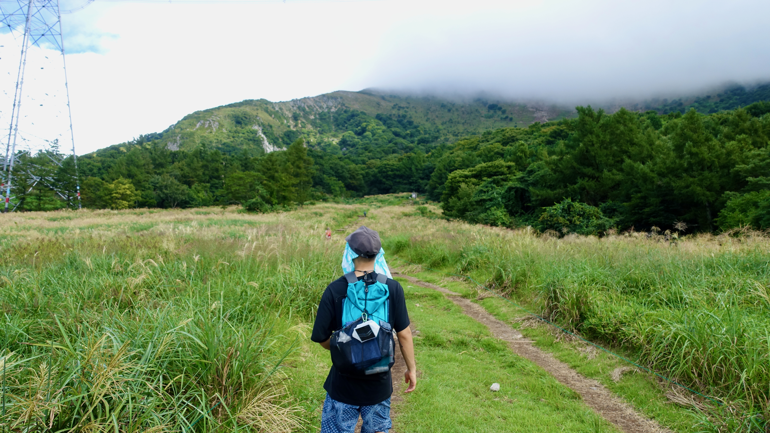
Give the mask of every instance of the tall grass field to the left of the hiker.
POLYGON ((14 215, 28 219, 0 250, 0 423, 126 432, 189 431, 196 421, 196 431, 317 426, 298 416, 320 403, 300 405, 290 367, 302 365, 307 324, 336 277, 320 235, 282 215, 68 216, 14 215))

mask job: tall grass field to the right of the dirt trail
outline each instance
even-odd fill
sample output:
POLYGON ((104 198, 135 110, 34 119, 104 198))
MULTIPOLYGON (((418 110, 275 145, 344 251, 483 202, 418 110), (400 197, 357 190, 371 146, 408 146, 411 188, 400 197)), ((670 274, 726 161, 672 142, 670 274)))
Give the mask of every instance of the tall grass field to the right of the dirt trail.
POLYGON ((670 245, 644 236, 549 239, 526 230, 423 221, 429 228, 403 229, 391 240, 400 257, 470 275, 724 401, 701 418, 704 431, 765 428, 767 238, 701 235, 670 245))

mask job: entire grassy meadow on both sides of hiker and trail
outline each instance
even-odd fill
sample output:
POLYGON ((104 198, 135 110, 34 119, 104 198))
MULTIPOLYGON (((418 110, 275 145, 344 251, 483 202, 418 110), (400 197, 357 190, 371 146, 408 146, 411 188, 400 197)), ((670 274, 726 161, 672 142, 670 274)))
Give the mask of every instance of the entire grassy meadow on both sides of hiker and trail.
MULTIPOLYGON (((323 288, 341 274, 346 234, 335 231, 326 241, 323 231, 365 223, 380 231, 392 267, 403 266, 397 259, 403 258, 472 276, 723 403, 681 396, 694 415, 677 431, 766 430, 767 238, 557 239, 444 221, 430 207, 414 212, 409 203, 390 196, 267 215, 236 208, 2 215, 2 428, 316 431, 328 355, 308 337, 323 288), (359 221, 363 210, 369 217, 359 221)), ((427 296, 424 289, 411 291, 410 302, 427 296)), ((470 285, 464 293, 482 298, 470 285)), ((500 318, 524 316, 497 301, 480 303, 500 318)), ((405 407, 415 410, 399 409, 398 431, 440 431, 437 426, 457 422, 467 431, 495 431, 478 429, 473 420, 507 425, 521 411, 544 420, 574 412, 564 418, 572 431, 611 429, 584 413, 567 388, 527 373, 524 360, 507 356, 470 319, 447 317, 443 328, 432 329, 434 321, 411 304, 410 314, 425 327, 423 335, 433 335, 416 343, 418 368, 430 375, 421 394, 407 395, 405 407), (473 348, 476 359, 460 362, 465 355, 457 354, 467 350, 460 346, 473 348), (440 421, 441 414, 457 418, 487 399, 474 394, 480 391, 470 389, 467 378, 451 381, 478 371, 477 362, 519 375, 511 384, 521 381, 514 389, 522 391, 489 401, 483 414, 440 421), (458 397, 447 398, 453 392, 458 397), (541 407, 541 399, 527 393, 553 395, 554 402, 541 407), (526 405, 508 407, 508 400, 526 405), (494 415, 499 411, 507 421, 494 415)))

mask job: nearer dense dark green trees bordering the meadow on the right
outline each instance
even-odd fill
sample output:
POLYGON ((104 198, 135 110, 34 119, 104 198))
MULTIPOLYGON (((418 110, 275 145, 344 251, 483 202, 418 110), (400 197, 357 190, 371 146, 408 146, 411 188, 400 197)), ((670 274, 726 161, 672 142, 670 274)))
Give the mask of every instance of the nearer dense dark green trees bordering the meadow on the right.
POLYGON ((757 109, 764 106, 665 116, 578 107, 577 119, 457 142, 435 160, 427 192, 446 215, 492 225, 557 229, 549 207, 581 202, 601 209, 602 225, 621 229, 675 221, 695 231, 767 228, 770 115, 757 109))

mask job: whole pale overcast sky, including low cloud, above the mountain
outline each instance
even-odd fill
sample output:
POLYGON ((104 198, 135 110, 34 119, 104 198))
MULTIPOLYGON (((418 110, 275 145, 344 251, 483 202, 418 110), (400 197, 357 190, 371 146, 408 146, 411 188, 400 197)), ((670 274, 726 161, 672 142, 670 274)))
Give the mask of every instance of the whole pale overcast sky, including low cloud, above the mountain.
MULTIPOLYGON (((768 16, 770 2, 747 0, 96 0, 62 19, 83 154, 250 98, 380 87, 576 104, 765 81, 768 16)), ((0 35, 5 125, 18 43, 0 35)), ((20 129, 30 143, 69 134, 60 62, 55 52, 29 54, 20 129)))

